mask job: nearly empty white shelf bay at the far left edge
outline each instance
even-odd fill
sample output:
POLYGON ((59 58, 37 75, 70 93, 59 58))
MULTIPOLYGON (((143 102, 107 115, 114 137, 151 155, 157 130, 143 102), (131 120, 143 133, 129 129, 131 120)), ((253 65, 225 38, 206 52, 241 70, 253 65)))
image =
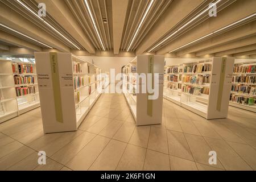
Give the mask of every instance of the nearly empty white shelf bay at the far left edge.
POLYGON ((0 123, 18 115, 11 61, 0 59, 0 123))

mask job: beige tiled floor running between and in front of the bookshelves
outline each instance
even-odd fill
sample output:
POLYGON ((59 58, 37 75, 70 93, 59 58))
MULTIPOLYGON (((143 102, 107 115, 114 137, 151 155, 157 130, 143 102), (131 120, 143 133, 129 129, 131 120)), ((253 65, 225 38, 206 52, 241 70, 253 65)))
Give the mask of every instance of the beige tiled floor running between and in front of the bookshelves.
POLYGON ((43 134, 40 107, 29 111, 0 124, 0 170, 256 169, 255 113, 230 107, 228 118, 207 121, 163 103, 162 125, 136 127, 122 94, 102 94, 78 131, 54 134, 43 134))

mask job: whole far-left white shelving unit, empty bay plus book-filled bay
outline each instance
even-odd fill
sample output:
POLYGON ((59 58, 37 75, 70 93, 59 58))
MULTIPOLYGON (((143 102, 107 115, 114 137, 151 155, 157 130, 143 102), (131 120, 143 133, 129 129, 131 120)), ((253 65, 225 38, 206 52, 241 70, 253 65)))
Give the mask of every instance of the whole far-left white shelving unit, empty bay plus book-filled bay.
POLYGON ((0 122, 39 106, 35 64, 0 59, 0 122))

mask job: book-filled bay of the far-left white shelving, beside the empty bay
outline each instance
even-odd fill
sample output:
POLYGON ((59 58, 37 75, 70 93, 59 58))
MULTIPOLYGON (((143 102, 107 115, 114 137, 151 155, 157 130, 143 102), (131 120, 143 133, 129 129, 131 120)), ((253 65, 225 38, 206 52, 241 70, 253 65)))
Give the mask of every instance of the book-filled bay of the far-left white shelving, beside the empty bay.
POLYGON ((40 106, 36 65, 24 62, 12 62, 11 64, 13 67, 18 110, 19 114, 23 114, 40 106), (23 71, 19 70, 18 66, 22 68, 23 71), (30 69, 30 71, 26 72, 26 68, 30 69), (22 89, 32 90, 32 92, 22 93, 22 91, 18 91, 22 89))

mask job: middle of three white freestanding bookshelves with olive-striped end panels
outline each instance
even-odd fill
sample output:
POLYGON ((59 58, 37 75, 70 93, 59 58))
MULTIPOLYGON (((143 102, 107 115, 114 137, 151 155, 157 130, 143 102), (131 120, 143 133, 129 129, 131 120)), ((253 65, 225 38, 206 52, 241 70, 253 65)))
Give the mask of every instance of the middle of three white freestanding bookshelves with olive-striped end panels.
MULTIPOLYGON (((152 55, 138 55, 123 67, 123 94, 137 126, 162 123, 163 68, 164 56, 152 55), (147 90, 146 93, 141 92, 145 83, 139 76, 147 73, 159 73, 159 83, 156 85, 159 94, 155 100, 148 99, 147 90)), ((147 78, 146 81, 148 82, 147 78)))

